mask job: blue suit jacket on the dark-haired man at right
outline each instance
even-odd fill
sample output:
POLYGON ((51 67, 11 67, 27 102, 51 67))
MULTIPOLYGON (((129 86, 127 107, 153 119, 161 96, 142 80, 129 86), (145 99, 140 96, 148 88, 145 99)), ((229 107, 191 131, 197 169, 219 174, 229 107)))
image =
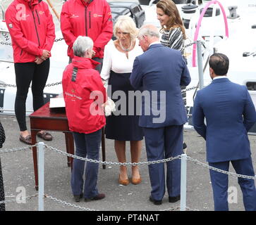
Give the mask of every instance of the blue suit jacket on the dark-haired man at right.
POLYGON ((255 106, 246 86, 222 78, 197 91, 193 124, 206 140, 208 162, 250 157, 247 132, 255 122, 255 106))

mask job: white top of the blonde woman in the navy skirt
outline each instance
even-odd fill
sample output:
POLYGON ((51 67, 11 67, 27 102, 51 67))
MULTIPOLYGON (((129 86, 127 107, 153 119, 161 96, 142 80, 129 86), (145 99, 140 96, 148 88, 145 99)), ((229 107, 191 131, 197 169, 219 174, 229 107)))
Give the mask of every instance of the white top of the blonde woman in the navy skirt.
POLYGON ((118 51, 114 45, 114 41, 110 40, 104 49, 104 59, 100 76, 102 79, 108 80, 111 70, 116 73, 132 72, 135 58, 142 53, 143 51, 137 39, 133 50, 128 51, 128 58, 126 53, 118 51))

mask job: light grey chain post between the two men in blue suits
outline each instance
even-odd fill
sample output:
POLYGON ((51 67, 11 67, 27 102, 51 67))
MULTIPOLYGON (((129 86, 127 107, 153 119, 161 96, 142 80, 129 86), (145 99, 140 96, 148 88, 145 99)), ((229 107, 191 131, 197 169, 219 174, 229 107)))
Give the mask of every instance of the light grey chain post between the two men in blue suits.
POLYGON ((181 155, 181 211, 185 211, 187 195, 187 155, 181 155))

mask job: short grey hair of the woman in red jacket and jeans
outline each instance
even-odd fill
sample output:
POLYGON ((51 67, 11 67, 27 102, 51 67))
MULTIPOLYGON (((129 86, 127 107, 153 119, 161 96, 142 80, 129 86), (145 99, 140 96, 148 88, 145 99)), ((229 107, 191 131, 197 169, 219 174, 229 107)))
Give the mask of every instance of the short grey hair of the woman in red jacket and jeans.
POLYGON ((90 37, 78 36, 73 44, 74 55, 83 57, 87 50, 92 50, 92 47, 93 41, 90 37))

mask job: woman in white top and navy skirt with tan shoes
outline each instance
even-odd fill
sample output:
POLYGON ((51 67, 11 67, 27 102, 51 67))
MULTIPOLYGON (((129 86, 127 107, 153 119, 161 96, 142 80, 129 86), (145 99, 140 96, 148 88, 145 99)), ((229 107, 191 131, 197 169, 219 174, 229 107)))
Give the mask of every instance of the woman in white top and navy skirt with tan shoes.
MULTIPOLYGON (((131 162, 139 162, 141 155, 143 133, 142 128, 138 126, 139 115, 136 115, 140 110, 136 110, 136 99, 128 97, 129 93, 135 91, 129 80, 133 61, 136 56, 142 54, 136 39, 137 34, 138 29, 133 19, 126 15, 119 16, 114 25, 114 35, 117 39, 109 41, 104 49, 101 77, 108 82, 109 97, 116 102, 116 111, 106 117, 106 139, 114 139, 118 162, 126 162, 126 141, 130 141, 131 162), (116 99, 115 95, 118 93, 125 99, 116 99)), ((119 170, 119 184, 128 185, 130 181, 126 166, 122 165, 119 170)), ((131 182, 141 182, 137 165, 132 167, 131 182)))

